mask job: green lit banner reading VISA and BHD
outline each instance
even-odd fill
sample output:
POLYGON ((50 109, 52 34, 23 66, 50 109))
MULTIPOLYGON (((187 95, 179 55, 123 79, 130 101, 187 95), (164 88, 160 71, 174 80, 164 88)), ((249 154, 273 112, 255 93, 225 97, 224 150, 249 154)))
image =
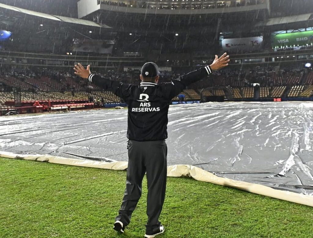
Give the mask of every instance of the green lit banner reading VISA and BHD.
POLYGON ((313 44, 313 30, 271 35, 272 47, 294 47, 313 44))

